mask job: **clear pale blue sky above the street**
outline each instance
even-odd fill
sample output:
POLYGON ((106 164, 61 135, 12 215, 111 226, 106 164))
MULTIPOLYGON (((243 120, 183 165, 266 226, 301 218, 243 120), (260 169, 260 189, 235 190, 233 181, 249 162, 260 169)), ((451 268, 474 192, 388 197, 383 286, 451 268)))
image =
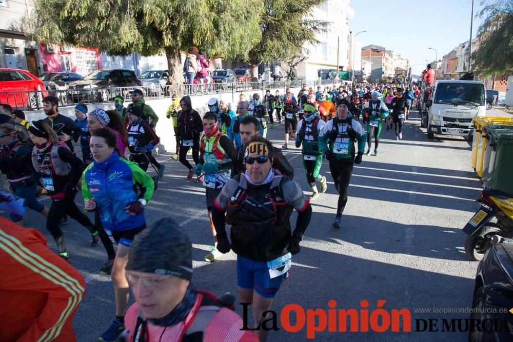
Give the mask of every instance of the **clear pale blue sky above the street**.
MULTIPOLYGON (((336 0, 334 0, 336 1, 336 0)), ((410 60, 412 74, 419 75, 427 62, 450 52, 470 36, 471 0, 351 0, 354 18, 349 29, 360 33, 362 47, 369 44, 394 50, 410 60)), ((481 0, 474 0, 474 15, 481 10, 481 0)), ((481 19, 474 16, 472 37, 481 19)))

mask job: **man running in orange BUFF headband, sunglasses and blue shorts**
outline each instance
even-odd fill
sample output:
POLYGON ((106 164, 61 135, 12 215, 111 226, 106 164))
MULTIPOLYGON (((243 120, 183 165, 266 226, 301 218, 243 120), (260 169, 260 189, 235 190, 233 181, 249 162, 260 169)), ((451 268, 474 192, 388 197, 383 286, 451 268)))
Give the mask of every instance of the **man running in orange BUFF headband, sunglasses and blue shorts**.
MULTIPOLYGON (((212 219, 218 232, 218 249, 237 254, 239 300, 253 305, 254 325, 267 318, 272 300, 291 265, 291 255, 310 222, 312 207, 301 187, 271 168, 272 145, 255 136, 246 148, 247 170, 231 179, 214 200, 212 219), (293 232, 290 214, 298 211, 293 232), (225 230, 231 225, 231 245, 225 230)), ((267 330, 259 330, 260 341, 267 330)))

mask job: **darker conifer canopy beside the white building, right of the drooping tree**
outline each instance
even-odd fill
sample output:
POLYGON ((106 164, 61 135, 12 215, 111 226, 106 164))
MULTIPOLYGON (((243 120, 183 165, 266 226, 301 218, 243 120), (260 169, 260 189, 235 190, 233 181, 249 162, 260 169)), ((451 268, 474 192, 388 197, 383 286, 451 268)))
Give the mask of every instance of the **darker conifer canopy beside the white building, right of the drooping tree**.
POLYGON ((249 52, 252 67, 277 60, 289 61, 302 53, 303 43, 319 43, 326 21, 312 19, 325 0, 264 0, 260 22, 262 39, 249 52))

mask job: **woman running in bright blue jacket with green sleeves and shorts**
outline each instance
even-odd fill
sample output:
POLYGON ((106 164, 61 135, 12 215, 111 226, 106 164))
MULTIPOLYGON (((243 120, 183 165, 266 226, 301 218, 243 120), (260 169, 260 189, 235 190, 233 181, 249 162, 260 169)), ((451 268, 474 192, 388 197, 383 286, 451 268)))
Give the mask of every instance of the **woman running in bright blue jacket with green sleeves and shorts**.
POLYGON ((125 266, 128 249, 134 236, 146 227, 144 206, 153 194, 153 180, 135 163, 128 162, 115 151, 116 137, 108 129, 91 133, 93 163, 84 171, 82 195, 85 210, 97 210, 102 225, 117 253, 112 267, 115 294, 115 319, 100 336, 102 341, 114 341, 123 332, 123 317, 128 306, 128 282, 125 266), (134 190, 139 185, 140 196, 134 190))

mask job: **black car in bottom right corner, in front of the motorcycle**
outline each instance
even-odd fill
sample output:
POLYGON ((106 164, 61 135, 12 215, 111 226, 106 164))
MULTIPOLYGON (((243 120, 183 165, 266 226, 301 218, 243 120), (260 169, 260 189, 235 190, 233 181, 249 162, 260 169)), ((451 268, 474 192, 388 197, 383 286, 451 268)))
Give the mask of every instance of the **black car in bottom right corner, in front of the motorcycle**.
POLYGON ((513 340, 513 315, 509 312, 513 308, 513 240, 499 243, 504 240, 495 239, 478 265, 472 300, 475 310, 470 318, 487 329, 469 330, 469 341, 513 340))

